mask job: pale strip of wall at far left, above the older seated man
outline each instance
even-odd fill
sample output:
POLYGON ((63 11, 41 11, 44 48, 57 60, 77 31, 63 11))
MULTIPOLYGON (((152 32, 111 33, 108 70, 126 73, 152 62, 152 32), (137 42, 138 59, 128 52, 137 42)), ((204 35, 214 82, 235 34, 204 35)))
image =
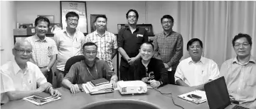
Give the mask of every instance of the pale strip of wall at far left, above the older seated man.
POLYGON ((14 60, 11 48, 14 47, 14 32, 16 27, 16 1, 0 1, 1 20, 1 65, 14 60))

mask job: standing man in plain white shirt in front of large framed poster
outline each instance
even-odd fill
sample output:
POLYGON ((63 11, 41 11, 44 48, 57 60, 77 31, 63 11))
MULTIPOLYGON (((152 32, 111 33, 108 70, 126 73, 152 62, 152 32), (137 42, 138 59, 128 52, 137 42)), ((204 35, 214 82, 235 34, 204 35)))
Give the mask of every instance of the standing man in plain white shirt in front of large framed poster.
POLYGON ((63 71, 65 63, 70 57, 80 55, 82 41, 85 35, 76 28, 78 27, 79 16, 73 11, 65 15, 67 28, 54 35, 54 40, 58 48, 58 56, 56 62, 57 68, 57 88, 60 87, 63 80, 63 71))

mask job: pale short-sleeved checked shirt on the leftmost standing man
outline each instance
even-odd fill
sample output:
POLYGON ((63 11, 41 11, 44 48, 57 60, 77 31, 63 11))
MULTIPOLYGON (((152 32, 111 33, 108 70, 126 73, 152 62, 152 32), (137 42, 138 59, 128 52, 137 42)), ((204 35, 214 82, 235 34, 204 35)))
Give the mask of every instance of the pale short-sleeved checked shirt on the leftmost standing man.
POLYGON ((50 62, 50 56, 58 54, 56 43, 53 39, 45 37, 40 40, 37 35, 26 38, 32 45, 32 58, 38 67, 47 67, 50 62))

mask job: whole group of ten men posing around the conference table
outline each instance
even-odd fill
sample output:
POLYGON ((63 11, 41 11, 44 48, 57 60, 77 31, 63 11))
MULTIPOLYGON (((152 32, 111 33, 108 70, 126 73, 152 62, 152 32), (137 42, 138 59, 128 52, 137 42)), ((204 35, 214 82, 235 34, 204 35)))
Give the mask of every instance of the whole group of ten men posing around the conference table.
MULTIPOLYGON (((202 57, 203 42, 193 38, 187 43, 191 57, 183 59, 183 38, 172 30, 174 18, 164 15, 164 31, 149 42, 144 28, 137 27, 139 13, 130 9, 126 13, 129 28, 119 30, 118 37, 106 30, 107 17, 95 18, 96 30, 84 35, 78 29, 79 16, 68 12, 67 28, 47 38, 50 21, 36 18, 36 34, 23 42, 16 42, 12 50, 15 62, 1 67, 1 103, 18 100, 42 91, 61 96, 53 89, 53 72, 56 62, 57 88, 69 88, 78 93, 78 84, 106 78, 114 87, 118 80, 112 59, 117 51, 122 55, 119 66, 120 80, 142 80, 153 88, 164 84, 177 84, 203 90, 209 81, 224 76, 230 99, 248 107, 256 106, 256 59, 252 57, 252 38, 239 33, 232 41, 236 57, 225 61, 219 71, 212 59, 202 57), (68 74, 64 67, 70 57, 83 54, 85 59, 72 65, 68 74)), ((118 72, 118 71, 117 71, 118 72)))

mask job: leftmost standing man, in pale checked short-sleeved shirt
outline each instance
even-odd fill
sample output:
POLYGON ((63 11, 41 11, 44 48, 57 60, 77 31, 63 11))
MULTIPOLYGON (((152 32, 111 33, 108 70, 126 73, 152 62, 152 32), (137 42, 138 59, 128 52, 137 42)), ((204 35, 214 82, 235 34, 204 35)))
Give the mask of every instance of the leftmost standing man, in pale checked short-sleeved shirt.
POLYGON ((25 39, 32 45, 33 52, 30 60, 40 68, 47 81, 53 84, 51 68, 55 63, 58 50, 55 41, 46 37, 50 21, 48 18, 40 16, 36 18, 35 25, 36 34, 25 39))

